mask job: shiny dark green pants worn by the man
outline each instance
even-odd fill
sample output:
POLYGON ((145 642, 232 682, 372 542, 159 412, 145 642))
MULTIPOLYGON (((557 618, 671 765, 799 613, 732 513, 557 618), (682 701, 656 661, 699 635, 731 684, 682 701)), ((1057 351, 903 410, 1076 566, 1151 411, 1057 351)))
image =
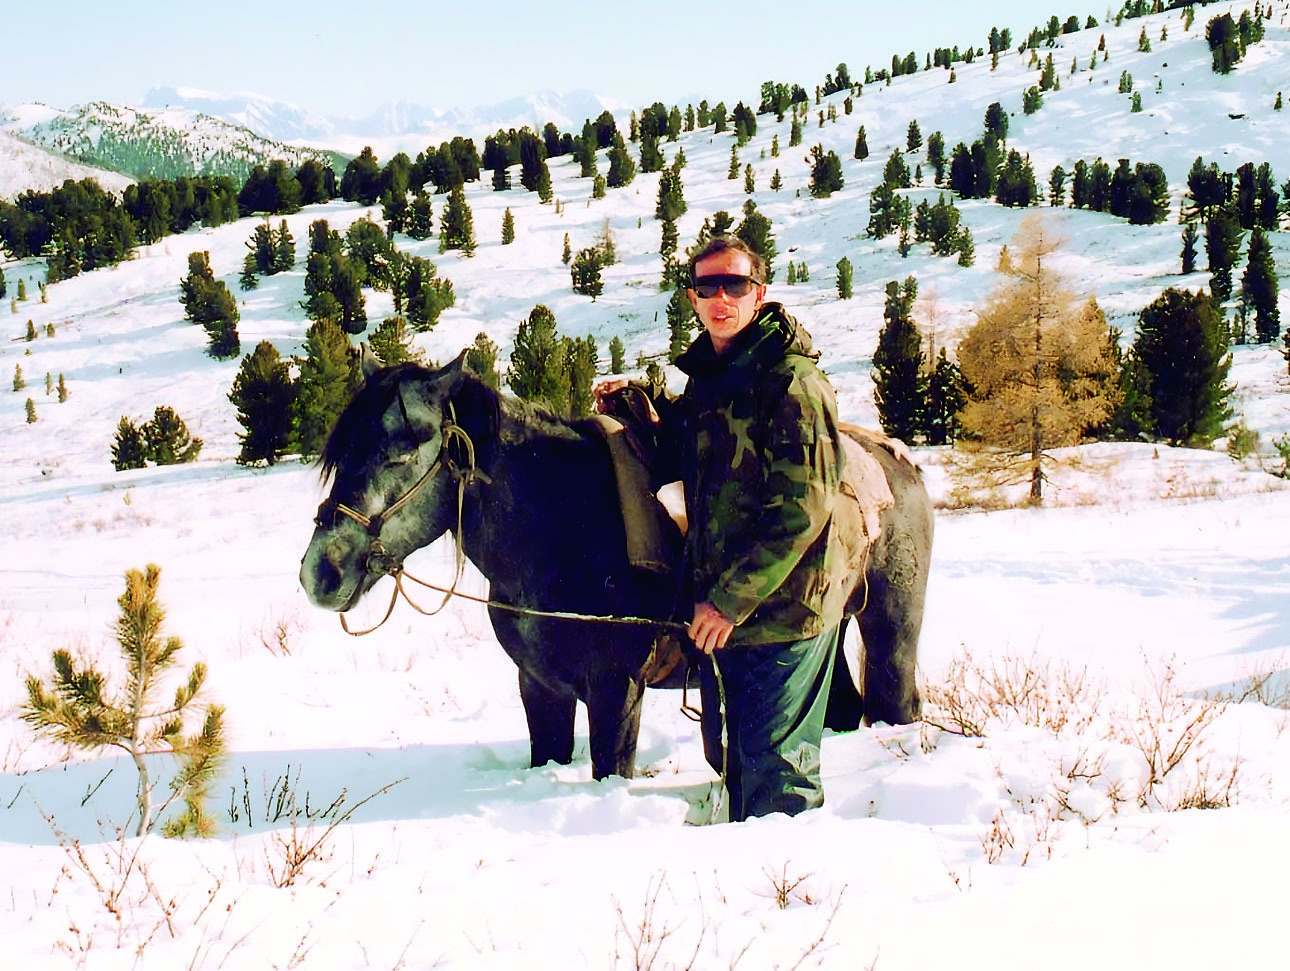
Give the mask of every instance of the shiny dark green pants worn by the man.
POLYGON ((792 816, 824 802, 819 741, 836 649, 836 627, 806 641, 724 647, 715 655, 720 687, 704 659, 703 749, 720 772, 724 690, 730 821, 792 816))

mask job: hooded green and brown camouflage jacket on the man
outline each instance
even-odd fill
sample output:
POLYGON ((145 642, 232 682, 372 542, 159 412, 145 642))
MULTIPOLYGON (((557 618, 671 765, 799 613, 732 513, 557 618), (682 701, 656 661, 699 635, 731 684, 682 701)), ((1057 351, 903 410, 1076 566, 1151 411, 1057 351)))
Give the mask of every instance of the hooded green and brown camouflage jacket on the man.
POLYGON ((685 593, 735 623, 731 643, 800 641, 841 619, 832 512, 845 459, 818 356, 768 303, 721 356, 700 334, 676 361, 685 391, 657 402, 660 454, 685 484, 685 593))

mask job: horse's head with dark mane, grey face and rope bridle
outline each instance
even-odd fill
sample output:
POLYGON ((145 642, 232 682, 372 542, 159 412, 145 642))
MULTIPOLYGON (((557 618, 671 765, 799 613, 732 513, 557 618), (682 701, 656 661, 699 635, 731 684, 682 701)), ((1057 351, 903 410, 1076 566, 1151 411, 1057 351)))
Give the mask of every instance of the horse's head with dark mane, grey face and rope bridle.
POLYGON ((495 393, 464 356, 437 371, 364 357, 362 387, 322 449, 332 491, 301 560, 315 605, 350 610, 405 557, 457 529, 458 484, 497 422, 495 393))

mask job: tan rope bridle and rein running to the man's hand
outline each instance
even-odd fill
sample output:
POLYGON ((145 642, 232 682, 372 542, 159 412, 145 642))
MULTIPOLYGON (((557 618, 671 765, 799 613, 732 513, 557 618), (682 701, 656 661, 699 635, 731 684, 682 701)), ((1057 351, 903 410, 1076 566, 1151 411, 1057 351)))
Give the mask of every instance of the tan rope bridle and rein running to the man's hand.
POLYGON ((441 611, 445 606, 448 606, 448 602, 453 597, 461 597, 462 600, 468 600, 475 603, 482 603, 488 607, 504 610, 507 613, 519 614, 521 616, 548 618, 553 620, 579 620, 583 623, 654 627, 664 631, 681 631, 681 632, 689 631, 689 625, 682 624, 679 620, 651 620, 650 618, 639 618, 639 616, 602 616, 597 614, 578 614, 568 610, 538 610, 537 607, 521 607, 515 603, 503 603, 502 601, 490 600, 488 597, 477 597, 471 593, 462 593, 461 591, 458 591, 457 584, 461 583, 462 574, 464 573, 466 569, 466 551, 462 545, 462 517, 466 507, 466 487, 475 480, 488 482, 489 477, 484 472, 480 472, 480 469, 476 467, 475 442, 471 441, 471 437, 470 435, 466 433, 466 429, 462 428, 459 424, 457 424, 455 420, 457 415, 453 411, 452 404, 449 404, 449 415, 450 418, 445 419, 442 423, 444 444, 440 449, 440 458, 437 458, 435 463, 428 469, 426 469, 422 477, 418 478, 413 484, 413 486, 406 493, 404 493, 395 503, 392 503, 390 508, 377 513, 375 516, 364 516, 361 512, 350 508, 344 503, 332 502, 330 499, 325 500, 322 505, 319 508, 319 515, 315 520, 315 522, 317 522, 319 525, 325 525, 328 521, 334 522, 335 515, 339 513, 341 516, 346 516, 357 522, 360 526, 362 526, 368 531, 368 535, 372 536, 372 542, 368 545, 368 553, 365 557, 368 569, 372 570, 373 573, 387 575, 392 578, 395 582, 395 588, 390 594, 390 605, 386 607, 384 615, 381 618, 381 620, 378 620, 375 624, 366 628, 365 631, 351 631, 350 625, 346 623, 344 611, 339 614, 341 628, 347 634, 350 634, 351 637, 362 637, 383 627, 384 623, 393 614, 395 603, 399 602, 400 594, 405 601, 408 601, 408 605, 422 616, 433 616, 435 614, 441 611), (452 438, 461 438, 466 446, 466 460, 467 460, 466 468, 458 467, 458 464, 453 462, 452 458, 449 458, 446 462, 442 458, 448 450, 448 444, 452 438), (413 576, 404 569, 401 561, 395 560, 392 556, 390 556, 384 545, 381 543, 381 530, 384 526, 386 521, 390 520, 400 509, 402 509, 408 503, 410 503, 413 498, 417 495, 417 493, 419 493, 424 487, 424 485, 431 478, 433 478, 439 473, 439 471, 445 466, 449 471, 449 475, 452 475, 452 477, 457 481, 457 529, 453 530, 453 535, 455 538, 453 547, 453 560, 454 560, 453 582, 448 587, 440 587, 437 584, 413 576), (437 607, 432 610, 426 610, 408 594, 408 591, 404 588, 402 583, 404 578, 412 580, 415 584, 419 584, 421 587, 424 587, 426 589, 442 593, 444 594, 442 601, 440 601, 437 607))

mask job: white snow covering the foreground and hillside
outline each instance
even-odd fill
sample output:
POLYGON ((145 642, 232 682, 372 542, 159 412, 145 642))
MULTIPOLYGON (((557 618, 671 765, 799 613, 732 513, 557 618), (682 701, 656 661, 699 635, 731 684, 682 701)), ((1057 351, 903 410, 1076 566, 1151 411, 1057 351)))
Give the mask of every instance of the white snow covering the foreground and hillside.
MULTIPOLYGON (((756 170, 756 200, 782 253, 774 294, 823 348, 845 418, 876 423, 868 360, 885 282, 913 273, 921 295, 935 289, 938 340, 952 344, 1024 215, 961 204, 977 241, 977 264, 966 270, 924 246, 902 259, 891 240, 864 239, 864 201, 908 120, 917 116, 925 137, 943 129, 952 147, 977 137, 986 106, 1004 99, 1018 111, 1010 146, 1031 151, 1041 179, 1053 164, 1069 168, 1095 152, 1157 161, 1175 191, 1196 155, 1226 169, 1247 160, 1276 166, 1290 157, 1268 97, 1286 76, 1286 6, 1273 6, 1267 39, 1237 72, 1216 79, 1196 40, 1224 9, 1198 10, 1191 34, 1176 12, 1147 18, 1149 55, 1130 53, 1143 21, 1063 37, 1055 59, 1064 70, 1073 48, 1081 75, 1063 79, 1024 120, 1019 99, 1032 74, 1017 55, 993 74, 988 58, 958 64, 948 88, 940 71, 866 85, 855 113, 844 116, 838 102, 840 123, 811 121, 792 150, 787 121, 759 119, 740 159, 756 170), (1156 40, 1161 23, 1165 43, 1156 40), (1112 58, 1099 80, 1127 67, 1142 83, 1158 71, 1170 93, 1162 101, 1186 130, 1176 120, 1169 141, 1139 130, 1146 123, 1129 116, 1127 95, 1082 83, 1102 32, 1112 58), (1232 123, 1229 110, 1246 111, 1246 121, 1232 123), (864 162, 851 159, 858 124, 872 150, 864 162), (769 152, 774 134, 778 159, 769 152), (846 188, 829 200, 805 192, 800 160, 817 141, 844 159, 846 188), (778 195, 765 188, 775 168, 786 181, 778 195), (850 302, 833 288, 844 254, 857 268, 850 302), (810 282, 783 285, 787 259, 806 260, 810 282)), ((743 201, 742 181, 725 179, 729 138, 681 139, 690 206, 682 240, 713 210, 735 213, 743 201)), ((539 302, 561 333, 592 334, 606 356, 614 335, 628 361, 666 347, 657 177, 637 175, 588 204, 590 186, 568 160, 551 172, 559 215, 521 190, 470 187, 473 259, 400 237, 435 259, 458 295, 418 339, 428 356, 446 361, 484 330, 504 364, 516 325, 539 302), (503 248, 507 206, 517 241, 503 248), (592 303, 570 291, 559 254, 565 232, 577 250, 605 218, 620 262, 592 303)), ((435 206, 437 215, 441 197, 435 206)), ((343 231, 365 214, 333 202, 288 217, 298 254, 313 219, 343 231)), ((1205 275, 1176 277, 1176 223, 1127 227, 1069 210, 1053 218, 1068 237, 1060 268, 1098 297, 1126 339, 1136 311, 1164 288, 1207 285, 1205 275)), ((978 496, 995 508, 987 512, 952 508, 952 456, 920 449, 943 507, 920 646, 928 722, 828 735, 827 803, 817 812, 688 827, 715 776, 676 692, 646 698, 636 779, 591 779, 582 722, 570 766, 529 769, 515 669, 481 607, 454 602, 426 619, 401 606, 355 638, 307 603, 297 570, 322 498, 317 473, 295 460, 270 469, 233 463, 240 429, 226 396, 237 362, 206 357, 203 331, 182 320, 178 303, 188 253, 208 250, 239 297, 243 349, 270 339, 284 355, 301 351, 303 259, 241 293, 252 228, 243 221, 166 239, 125 264, 50 286, 48 303, 37 262, 4 264, 10 295, 19 277, 30 294, 0 342, 0 373, 21 365, 27 380, 23 392, 0 396, 9 428, 0 453, 8 966, 1285 963, 1276 927, 1290 868, 1290 716, 1267 701, 1284 704, 1290 687, 1290 491, 1263 471, 1278 463, 1272 440, 1290 432, 1290 375, 1278 349, 1233 349, 1238 411, 1262 436, 1260 453, 1242 463, 1222 450, 1084 446, 1054 471, 1042 508, 1023 508, 1005 490, 978 496), (21 339, 28 319, 40 333, 30 343, 21 339), (66 375, 66 404, 44 395, 45 373, 66 375), (35 424, 23 418, 28 396, 35 424), (163 404, 204 440, 200 459, 114 472, 120 417, 139 422, 163 404), (181 665, 205 662, 205 692, 227 708, 231 757, 214 788, 219 833, 209 841, 120 836, 133 806, 129 762, 66 753, 18 718, 23 677, 48 676, 55 647, 115 671, 121 576, 148 562, 163 569, 166 631, 184 642, 181 665), (1001 686, 1022 685, 1027 692, 1011 703, 989 704, 1001 686), (984 735, 958 734, 968 722, 984 735), (1182 754, 1170 765, 1175 748, 1182 754), (1214 807, 1187 807, 1196 803, 1214 807), (289 879, 293 854, 310 847, 289 879)), ((1275 251, 1286 279, 1282 235, 1275 251)), ((1286 311, 1282 299, 1290 319, 1286 311)), ((388 295, 368 293, 373 322, 391 312, 388 295)), ((448 578, 450 549, 436 544, 408 566, 448 578)), ((467 573, 467 592, 485 587, 467 573)), ((384 596, 378 588, 352 625, 374 623, 384 596)), ((160 758, 156 772, 169 775, 160 758)))

